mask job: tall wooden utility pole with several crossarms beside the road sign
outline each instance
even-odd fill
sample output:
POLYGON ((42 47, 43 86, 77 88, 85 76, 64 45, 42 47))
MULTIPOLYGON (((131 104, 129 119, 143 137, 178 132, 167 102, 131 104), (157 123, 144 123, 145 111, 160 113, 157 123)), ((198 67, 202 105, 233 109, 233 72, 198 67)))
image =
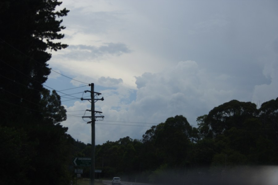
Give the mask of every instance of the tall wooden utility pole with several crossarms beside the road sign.
POLYGON ((101 93, 99 92, 95 92, 94 90, 94 83, 89 84, 89 86, 91 86, 91 91, 85 91, 85 92, 91 92, 91 99, 84 99, 81 98, 81 100, 91 100, 91 110, 86 110, 86 111, 91 111, 91 116, 82 116, 82 118, 84 117, 89 117, 91 118, 92 121, 89 121, 87 123, 91 123, 91 170, 90 170, 90 185, 94 185, 95 184, 95 118, 96 117, 104 117, 104 116, 95 116, 95 113, 102 113, 100 111, 95 111, 95 102, 98 100, 103 101, 103 97, 101 99, 95 99, 95 94, 96 95, 101 95, 101 93))

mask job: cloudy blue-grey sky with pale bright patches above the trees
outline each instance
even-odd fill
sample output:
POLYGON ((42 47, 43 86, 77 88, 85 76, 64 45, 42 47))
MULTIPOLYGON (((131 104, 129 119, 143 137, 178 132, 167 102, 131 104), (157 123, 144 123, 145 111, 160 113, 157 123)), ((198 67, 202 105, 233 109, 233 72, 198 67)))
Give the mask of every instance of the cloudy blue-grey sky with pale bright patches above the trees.
POLYGON ((52 52, 45 85, 59 91, 68 134, 95 144, 142 139, 169 117, 196 118, 231 100, 278 97, 278 1, 63 0, 69 45, 52 52), (62 75, 61 75, 62 74, 62 75), (70 95, 70 96, 68 96, 70 95), (86 114, 85 114, 86 113, 86 114), (100 116, 96 114, 96 116, 100 116))

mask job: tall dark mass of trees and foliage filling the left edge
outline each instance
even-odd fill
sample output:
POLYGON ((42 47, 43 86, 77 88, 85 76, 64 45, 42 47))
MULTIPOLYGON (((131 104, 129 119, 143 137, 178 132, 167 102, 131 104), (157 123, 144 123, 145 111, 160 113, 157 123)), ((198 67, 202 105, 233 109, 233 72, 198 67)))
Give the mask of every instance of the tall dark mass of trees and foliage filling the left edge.
POLYGON ((57 0, 0 1, 0 179, 2 184, 70 184, 74 139, 59 95, 43 88, 46 63, 65 44, 57 0), (70 154, 70 155, 69 155, 70 154))

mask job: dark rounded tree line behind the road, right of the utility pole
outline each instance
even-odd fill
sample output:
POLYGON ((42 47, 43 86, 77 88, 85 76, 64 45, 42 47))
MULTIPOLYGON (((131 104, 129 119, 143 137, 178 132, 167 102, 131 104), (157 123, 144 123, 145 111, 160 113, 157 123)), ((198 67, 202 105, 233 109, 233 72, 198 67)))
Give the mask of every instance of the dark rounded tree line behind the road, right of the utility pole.
MULTIPOLYGON (((199 183, 228 171, 278 164, 278 98, 263 103, 232 100, 197 118, 192 127, 177 115, 152 126, 141 139, 120 138, 96 146, 103 178, 121 176, 145 183, 199 183)), ((83 143, 80 156, 90 156, 83 143)), ((215 182, 214 182, 215 183, 215 182)))

